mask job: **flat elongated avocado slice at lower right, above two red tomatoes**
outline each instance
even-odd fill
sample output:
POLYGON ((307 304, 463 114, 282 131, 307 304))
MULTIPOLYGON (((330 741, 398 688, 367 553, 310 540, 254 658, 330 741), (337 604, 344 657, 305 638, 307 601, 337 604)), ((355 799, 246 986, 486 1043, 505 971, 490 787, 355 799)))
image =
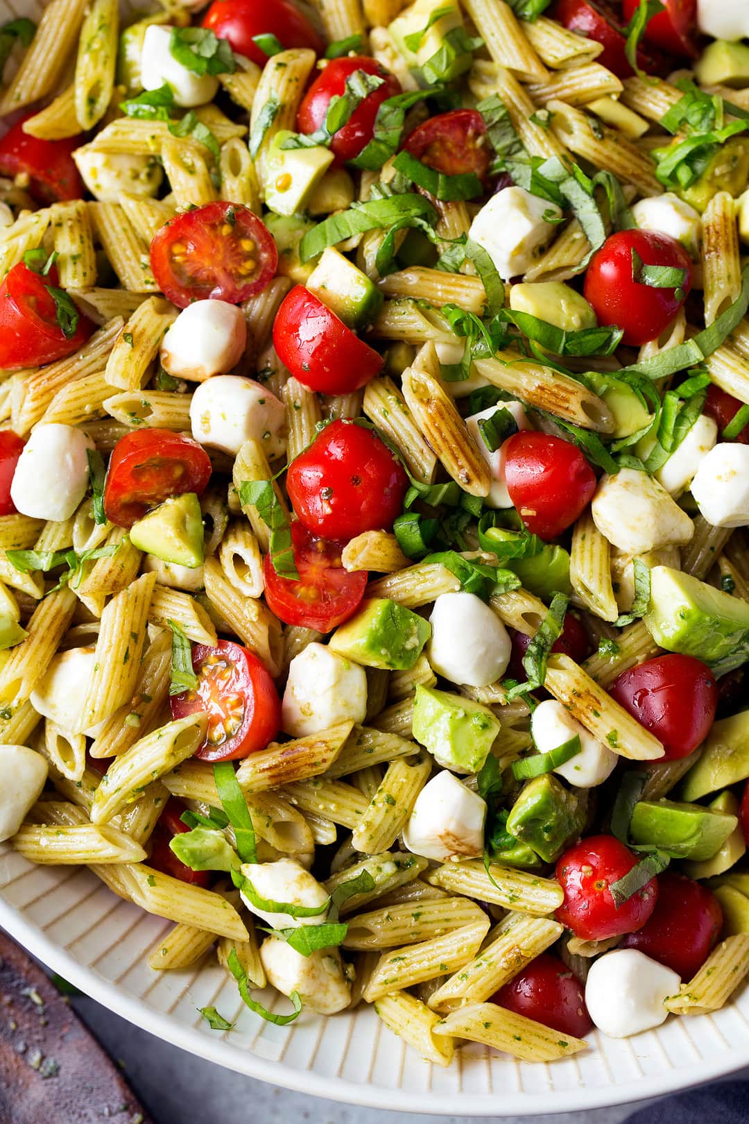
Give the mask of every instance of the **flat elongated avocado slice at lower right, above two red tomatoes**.
POLYGON ((738 824, 736 816, 700 804, 640 800, 630 822, 633 843, 657 846, 673 859, 712 859, 738 824))

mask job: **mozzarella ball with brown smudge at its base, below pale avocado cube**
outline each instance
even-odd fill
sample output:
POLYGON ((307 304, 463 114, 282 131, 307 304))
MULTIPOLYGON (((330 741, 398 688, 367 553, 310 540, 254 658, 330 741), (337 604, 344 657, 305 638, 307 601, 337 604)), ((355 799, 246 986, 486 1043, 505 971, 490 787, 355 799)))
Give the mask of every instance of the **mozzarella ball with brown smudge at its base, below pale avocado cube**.
POLYGON ((477 859, 484 851, 486 803, 445 769, 417 797, 403 844, 436 862, 477 859))

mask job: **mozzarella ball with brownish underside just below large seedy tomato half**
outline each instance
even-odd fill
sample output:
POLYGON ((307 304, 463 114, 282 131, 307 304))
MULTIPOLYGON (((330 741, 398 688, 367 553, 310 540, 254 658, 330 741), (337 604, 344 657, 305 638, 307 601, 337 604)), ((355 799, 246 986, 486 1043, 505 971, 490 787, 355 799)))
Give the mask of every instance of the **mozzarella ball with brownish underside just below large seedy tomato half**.
POLYGON ((162 341, 162 366, 177 379, 204 382, 241 359, 247 321, 226 300, 197 300, 183 308, 162 341))

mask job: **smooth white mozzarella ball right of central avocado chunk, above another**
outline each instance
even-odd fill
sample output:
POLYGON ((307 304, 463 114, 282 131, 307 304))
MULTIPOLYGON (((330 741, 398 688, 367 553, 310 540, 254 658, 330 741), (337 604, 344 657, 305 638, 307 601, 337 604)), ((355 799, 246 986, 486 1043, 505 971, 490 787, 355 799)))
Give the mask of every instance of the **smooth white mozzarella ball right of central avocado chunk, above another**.
POLYGON ((512 644, 508 631, 475 593, 442 593, 429 618, 427 659, 453 683, 486 687, 504 674, 512 644))

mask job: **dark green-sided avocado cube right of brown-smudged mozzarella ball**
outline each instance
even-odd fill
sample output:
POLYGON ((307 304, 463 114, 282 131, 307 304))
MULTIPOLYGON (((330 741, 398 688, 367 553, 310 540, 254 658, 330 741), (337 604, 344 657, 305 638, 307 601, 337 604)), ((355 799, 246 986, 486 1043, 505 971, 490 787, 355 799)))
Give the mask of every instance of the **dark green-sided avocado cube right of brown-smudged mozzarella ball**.
POLYGON ((508 816, 508 832, 527 843, 544 862, 555 862, 577 839, 585 823, 585 803, 552 773, 523 786, 508 816))

